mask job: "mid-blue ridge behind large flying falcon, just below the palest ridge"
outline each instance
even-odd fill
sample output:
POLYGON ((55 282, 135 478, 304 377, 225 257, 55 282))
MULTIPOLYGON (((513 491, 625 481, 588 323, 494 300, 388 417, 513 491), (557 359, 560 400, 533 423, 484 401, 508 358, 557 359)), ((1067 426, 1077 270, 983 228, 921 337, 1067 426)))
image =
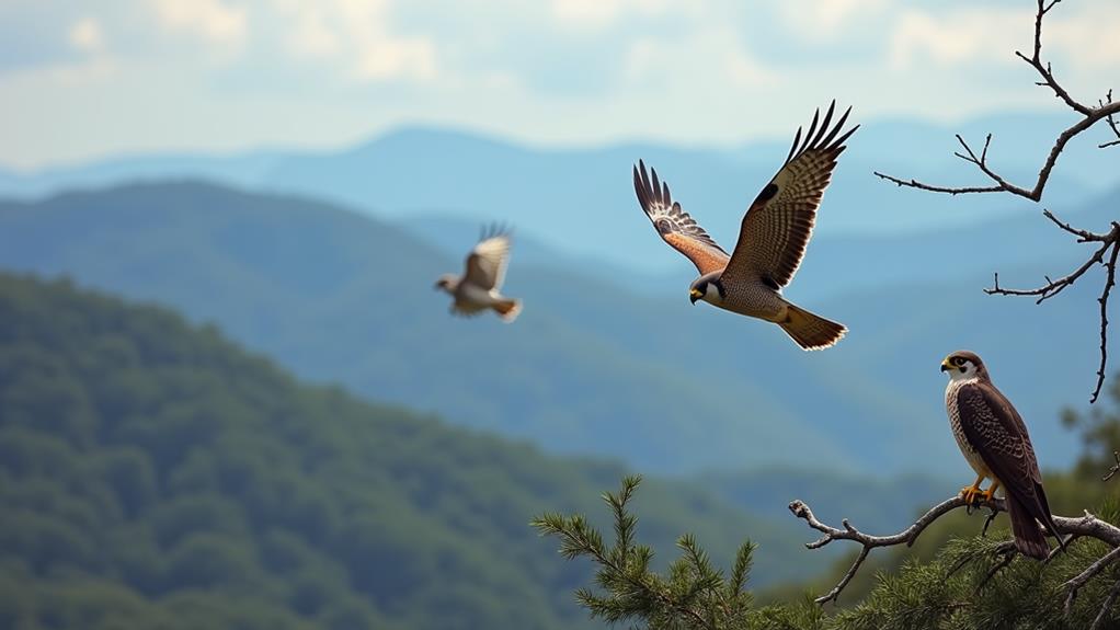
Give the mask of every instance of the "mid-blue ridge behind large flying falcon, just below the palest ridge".
MULTIPOLYGON (((950 211, 953 198, 944 198, 944 211, 950 211)), ((1070 206, 1052 209, 1075 226, 1107 232, 1117 218, 1120 187, 1070 206)), ((478 224, 447 215, 421 215, 398 225, 445 253, 459 255, 468 251, 478 236, 478 224)), ((632 270, 594 256, 573 256, 549 244, 515 234, 517 264, 562 266, 589 275, 612 279, 629 291, 653 295, 679 295, 696 278, 696 267, 666 246, 656 257, 670 262, 665 271, 632 270)), ((656 239, 652 233, 650 236, 656 239)), ((659 241, 660 244, 660 241, 659 241)), ((809 255, 797 273, 796 282, 786 293, 794 299, 827 300, 852 291, 881 288, 887 284, 940 282, 945 278, 969 278, 976 288, 989 286, 992 273, 1006 272, 1037 261, 1039 252, 1055 261, 1067 258, 1072 264, 1084 260, 1084 247, 1047 220, 1040 207, 1025 206, 1005 216, 984 217, 973 226, 937 227, 921 233, 861 236, 818 236, 809 246, 809 255)), ((1030 282, 1035 279, 1023 279, 1030 282)))

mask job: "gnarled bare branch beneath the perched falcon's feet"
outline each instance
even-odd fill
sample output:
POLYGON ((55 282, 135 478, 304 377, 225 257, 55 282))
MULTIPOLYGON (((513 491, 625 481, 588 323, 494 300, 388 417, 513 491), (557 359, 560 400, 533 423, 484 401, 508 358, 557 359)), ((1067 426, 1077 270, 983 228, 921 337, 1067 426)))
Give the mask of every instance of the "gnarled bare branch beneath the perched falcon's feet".
MULTIPOLYGON (((1004 505, 1002 499, 991 499, 987 501, 970 504, 965 501, 963 497, 956 496, 950 499, 945 499, 944 501, 933 506, 932 508, 930 508, 927 513, 918 517, 918 519, 915 520, 914 524, 907 527, 906 529, 903 529, 902 532, 898 532, 896 534, 889 534, 886 536, 876 536, 871 534, 866 534, 852 527, 852 525, 848 523, 848 519, 843 519, 840 521, 841 526, 843 527, 842 529, 832 527, 831 525, 821 523, 813 515, 813 510, 810 509, 810 507, 804 501, 795 500, 791 502, 790 511, 793 513, 794 516, 804 520, 812 529, 815 529, 823 534, 823 536, 818 538, 816 540, 813 540, 812 543, 805 543, 806 548, 819 549, 824 545, 828 545, 832 540, 852 540, 859 543, 862 546, 862 549, 860 549, 859 555, 856 557, 856 561, 848 570, 848 573, 844 574, 844 576, 831 591, 829 591, 824 595, 821 595, 820 598, 816 598, 815 600, 816 603, 824 604, 829 601, 836 601, 837 598, 840 596, 840 592, 843 591, 843 589, 848 585, 849 582, 851 582, 852 576, 856 575, 856 572, 859 570, 860 565, 864 564, 864 561, 867 560, 867 556, 870 554, 871 549, 876 547, 889 547, 902 544, 911 546, 922 534, 922 532, 924 532, 925 528, 928 527, 933 521, 962 507, 969 507, 969 508, 984 507, 991 509, 993 513, 1006 511, 1006 507, 1004 505)), ((988 523, 990 523, 990 520, 991 519, 989 517, 988 523)), ((984 524, 986 530, 987 530, 987 525, 988 524, 986 523, 984 524)), ((1055 515, 1054 525, 1057 527, 1058 535, 1071 535, 1072 537, 1079 537, 1079 538, 1081 537, 1095 538, 1113 547, 1112 552, 1110 552, 1108 555, 1105 555, 1100 561, 1098 561, 1096 563, 1094 563, 1093 565, 1091 565, 1089 568, 1085 570, 1085 572, 1093 570, 1092 573, 1085 575, 1085 572, 1083 572, 1082 575, 1079 575, 1077 577, 1071 580, 1071 582, 1066 584, 1067 590, 1072 589, 1072 592, 1076 592, 1076 590, 1080 589, 1085 582, 1088 582, 1090 579, 1096 575, 1096 573, 1099 573, 1100 570, 1104 568, 1117 557, 1120 557, 1120 551, 1117 551, 1120 549, 1120 527, 1117 527, 1110 523, 1101 520, 1095 516, 1089 514, 1088 511, 1085 513, 1084 516, 1081 517, 1066 517, 1066 516, 1055 515), (1100 564, 1100 566, 1096 566, 1098 564, 1100 564), (1094 567, 1096 568, 1094 570, 1094 567), (1075 580, 1081 579, 1082 576, 1084 577, 1081 580, 1081 582, 1073 584, 1075 580)), ((1005 562, 1001 563, 1001 565, 997 565, 996 571, 1002 568, 1002 566, 1006 566, 1008 563, 1010 563, 1010 560, 1005 558, 1005 562)), ((995 571, 992 572, 992 574, 995 574, 995 571)))

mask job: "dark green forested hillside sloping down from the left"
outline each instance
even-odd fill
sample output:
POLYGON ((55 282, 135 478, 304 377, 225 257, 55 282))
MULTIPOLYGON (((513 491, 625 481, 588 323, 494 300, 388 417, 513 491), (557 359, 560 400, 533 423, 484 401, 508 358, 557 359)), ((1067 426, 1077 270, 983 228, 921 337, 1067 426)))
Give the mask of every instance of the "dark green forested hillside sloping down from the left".
MULTIPOLYGON (((162 309, 0 275, 0 628, 582 627, 586 567, 526 523, 601 511, 623 472, 301 385, 162 309)), ((642 505, 659 548, 750 537, 773 552, 759 576, 814 570, 697 486, 650 483, 642 505)))

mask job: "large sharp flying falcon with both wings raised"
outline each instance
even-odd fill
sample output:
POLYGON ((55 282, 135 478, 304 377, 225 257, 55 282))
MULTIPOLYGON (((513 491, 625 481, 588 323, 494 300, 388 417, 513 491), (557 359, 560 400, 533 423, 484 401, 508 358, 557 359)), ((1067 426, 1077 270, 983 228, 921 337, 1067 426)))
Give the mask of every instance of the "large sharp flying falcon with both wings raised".
POLYGON ((859 125, 840 134, 851 107, 832 125, 836 101, 824 120, 813 114, 809 133, 801 128, 793 139, 782 169, 771 179, 743 217, 739 242, 730 255, 672 199, 669 185, 652 178, 645 162, 634 167, 637 200, 654 229, 700 272, 689 288, 694 304, 712 305, 748 317, 773 321, 805 350, 834 345, 847 328, 796 307, 782 297, 793 280, 813 233, 816 207, 829 185, 844 140, 859 125), (818 126, 820 122, 820 126, 818 126))

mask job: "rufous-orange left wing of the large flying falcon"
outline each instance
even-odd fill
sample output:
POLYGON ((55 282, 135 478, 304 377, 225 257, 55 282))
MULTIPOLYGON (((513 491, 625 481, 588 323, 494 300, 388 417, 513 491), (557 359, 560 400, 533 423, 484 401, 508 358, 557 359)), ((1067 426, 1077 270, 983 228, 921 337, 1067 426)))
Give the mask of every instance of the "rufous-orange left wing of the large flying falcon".
POLYGON ((727 266, 727 252, 691 215, 681 209, 679 203, 673 201, 669 185, 657 180, 657 171, 653 170, 651 180, 645 171, 645 162, 638 160, 637 163, 634 167, 634 192, 661 238, 692 261, 701 275, 727 266))

